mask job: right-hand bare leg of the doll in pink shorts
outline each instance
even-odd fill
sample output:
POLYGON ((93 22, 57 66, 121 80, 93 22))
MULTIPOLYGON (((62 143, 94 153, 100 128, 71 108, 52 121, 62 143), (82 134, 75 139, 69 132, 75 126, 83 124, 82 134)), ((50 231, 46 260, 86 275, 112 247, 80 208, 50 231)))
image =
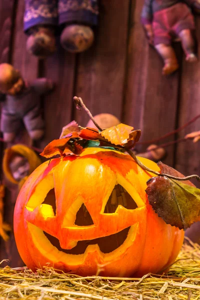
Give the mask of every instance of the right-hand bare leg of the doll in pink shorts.
POLYGON ((195 42, 191 30, 183 29, 179 32, 178 36, 180 37, 181 44, 186 55, 186 60, 189 62, 196 61, 197 57, 194 54, 195 42))

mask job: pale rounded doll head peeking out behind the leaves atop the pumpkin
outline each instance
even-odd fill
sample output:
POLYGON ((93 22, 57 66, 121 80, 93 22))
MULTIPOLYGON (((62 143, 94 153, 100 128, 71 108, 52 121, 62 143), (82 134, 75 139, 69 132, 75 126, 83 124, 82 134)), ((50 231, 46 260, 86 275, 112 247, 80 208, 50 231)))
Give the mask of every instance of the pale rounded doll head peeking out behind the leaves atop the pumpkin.
MULTIPOLYGON (((120 123, 119 119, 115 117, 113 114, 110 113, 99 113, 94 116, 94 120, 96 123, 102 128, 109 128, 112 126, 116 126, 120 123)), ((88 123, 86 124, 86 127, 91 127, 91 128, 96 128, 92 120, 89 120, 88 123)))

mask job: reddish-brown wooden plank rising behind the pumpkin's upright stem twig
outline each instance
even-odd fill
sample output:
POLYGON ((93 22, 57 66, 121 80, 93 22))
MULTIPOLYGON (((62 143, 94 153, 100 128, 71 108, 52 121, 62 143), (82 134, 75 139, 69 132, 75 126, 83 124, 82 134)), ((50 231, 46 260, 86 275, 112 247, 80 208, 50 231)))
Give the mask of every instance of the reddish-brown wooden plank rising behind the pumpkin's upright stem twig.
MULTIPOLYGON (((95 42, 79 55, 75 93, 93 115, 107 112, 121 118, 128 11, 128 0, 101 0, 95 42)), ((84 126, 88 116, 75 111, 74 119, 84 126)))

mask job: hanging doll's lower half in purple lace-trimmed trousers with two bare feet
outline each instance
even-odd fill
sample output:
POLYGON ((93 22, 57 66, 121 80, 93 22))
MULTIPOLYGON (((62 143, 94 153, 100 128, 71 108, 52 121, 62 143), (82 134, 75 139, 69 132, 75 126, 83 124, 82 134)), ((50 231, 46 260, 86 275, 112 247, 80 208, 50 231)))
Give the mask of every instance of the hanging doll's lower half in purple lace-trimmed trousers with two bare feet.
POLYGON ((97 14, 97 0, 25 0, 27 50, 38 58, 45 58, 55 51, 55 35, 60 31, 64 49, 86 50, 94 39, 97 14))

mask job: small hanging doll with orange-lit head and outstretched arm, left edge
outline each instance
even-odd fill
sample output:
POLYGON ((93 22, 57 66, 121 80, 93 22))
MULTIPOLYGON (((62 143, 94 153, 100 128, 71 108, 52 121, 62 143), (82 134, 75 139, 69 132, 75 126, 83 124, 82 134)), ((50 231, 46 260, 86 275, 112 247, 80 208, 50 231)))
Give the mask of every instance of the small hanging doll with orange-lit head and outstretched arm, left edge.
POLYGON ((40 139, 44 121, 39 95, 53 88, 52 81, 38 78, 25 81, 18 70, 8 63, 0 64, 0 101, 2 101, 0 129, 6 142, 14 139, 23 121, 30 137, 40 139))

